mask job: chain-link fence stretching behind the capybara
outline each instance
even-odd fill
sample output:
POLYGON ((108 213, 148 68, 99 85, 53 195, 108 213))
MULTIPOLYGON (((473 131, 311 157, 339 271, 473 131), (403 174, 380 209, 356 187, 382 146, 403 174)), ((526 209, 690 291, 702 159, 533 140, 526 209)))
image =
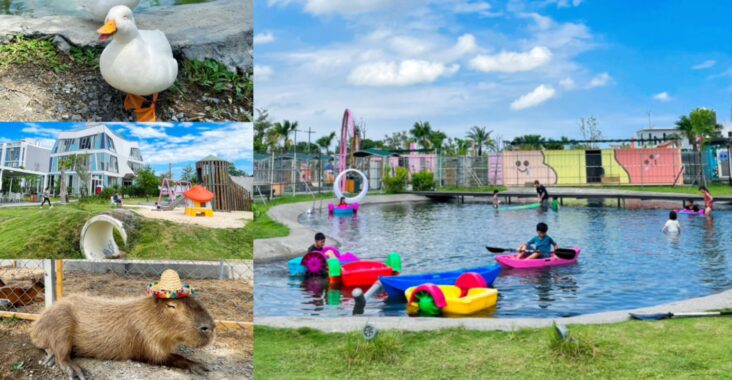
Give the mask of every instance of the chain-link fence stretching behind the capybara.
POLYGON ((252 334, 252 261, 0 260, 0 317, 35 320, 65 295, 144 296, 165 269, 211 313, 218 328, 252 334))

